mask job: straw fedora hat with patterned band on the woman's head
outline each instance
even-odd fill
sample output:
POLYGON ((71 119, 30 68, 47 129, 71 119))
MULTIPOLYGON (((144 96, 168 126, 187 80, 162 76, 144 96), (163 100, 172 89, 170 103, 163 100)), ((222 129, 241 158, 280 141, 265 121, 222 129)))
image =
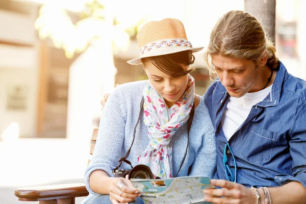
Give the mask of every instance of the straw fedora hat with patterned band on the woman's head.
POLYGON ((139 57, 127 61, 132 65, 141 64, 146 57, 179 53, 191 50, 198 52, 203 47, 192 47, 188 41, 185 28, 180 20, 165 18, 144 24, 138 33, 139 57))

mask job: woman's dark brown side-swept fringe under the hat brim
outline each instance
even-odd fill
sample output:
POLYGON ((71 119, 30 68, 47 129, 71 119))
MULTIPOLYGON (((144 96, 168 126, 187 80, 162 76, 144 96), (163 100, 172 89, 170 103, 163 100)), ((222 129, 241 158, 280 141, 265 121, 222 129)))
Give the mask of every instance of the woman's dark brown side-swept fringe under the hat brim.
POLYGON ((179 78, 191 72, 193 69, 185 71, 180 64, 190 65, 194 62, 194 56, 190 50, 179 53, 172 53, 168 55, 153 56, 141 59, 142 63, 145 59, 151 61, 162 72, 174 77, 179 78))

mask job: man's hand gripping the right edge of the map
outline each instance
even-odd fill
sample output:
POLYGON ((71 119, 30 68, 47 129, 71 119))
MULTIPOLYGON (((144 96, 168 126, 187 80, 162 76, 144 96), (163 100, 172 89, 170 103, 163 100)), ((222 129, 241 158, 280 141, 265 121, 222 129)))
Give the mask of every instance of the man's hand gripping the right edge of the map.
POLYGON ((241 184, 225 180, 211 180, 214 186, 222 189, 205 189, 205 200, 213 203, 257 203, 256 193, 253 189, 244 187, 241 184), (218 196, 218 197, 214 197, 218 196), (219 197, 221 196, 221 197, 219 197))

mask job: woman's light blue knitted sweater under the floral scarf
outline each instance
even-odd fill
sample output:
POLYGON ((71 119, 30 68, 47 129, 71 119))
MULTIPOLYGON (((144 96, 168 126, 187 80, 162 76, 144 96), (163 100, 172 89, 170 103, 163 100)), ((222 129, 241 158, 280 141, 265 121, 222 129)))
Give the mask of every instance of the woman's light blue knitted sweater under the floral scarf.
MULTIPOLYGON (((134 127, 136 125, 142 91, 147 81, 138 81, 122 84, 110 94, 104 107, 96 145, 90 164, 85 172, 85 185, 89 196, 93 195, 89 187, 89 176, 95 170, 103 170, 113 177, 112 170, 119 164, 118 160, 125 156, 133 140, 134 127)), ((172 174, 176 175, 183 160, 187 146, 187 123, 181 126, 172 136, 172 174)), ((127 158, 133 166, 137 165, 137 157, 148 146, 147 127, 143 122, 143 113, 137 125, 135 141, 130 156, 127 158)), ((200 103, 195 108, 194 118, 189 134, 189 145, 186 159, 177 176, 207 175, 213 178, 216 166, 216 144, 214 128, 209 111, 204 99, 200 97, 200 103), (191 171, 188 174, 188 169, 191 171)), ((122 163, 120 169, 131 169, 131 166, 122 163)))

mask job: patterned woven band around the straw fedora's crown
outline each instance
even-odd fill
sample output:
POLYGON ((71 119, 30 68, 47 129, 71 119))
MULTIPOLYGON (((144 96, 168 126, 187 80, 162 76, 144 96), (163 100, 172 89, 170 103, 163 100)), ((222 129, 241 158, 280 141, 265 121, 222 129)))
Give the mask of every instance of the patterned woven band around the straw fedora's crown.
POLYGON ((158 42, 153 42, 150 44, 145 45, 139 49, 139 55, 142 55, 151 49, 155 49, 158 47, 170 47, 170 46, 185 46, 185 47, 192 47, 191 42, 184 39, 175 39, 175 40, 162 40, 158 42))

